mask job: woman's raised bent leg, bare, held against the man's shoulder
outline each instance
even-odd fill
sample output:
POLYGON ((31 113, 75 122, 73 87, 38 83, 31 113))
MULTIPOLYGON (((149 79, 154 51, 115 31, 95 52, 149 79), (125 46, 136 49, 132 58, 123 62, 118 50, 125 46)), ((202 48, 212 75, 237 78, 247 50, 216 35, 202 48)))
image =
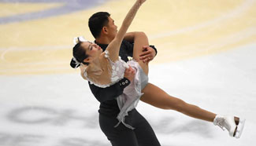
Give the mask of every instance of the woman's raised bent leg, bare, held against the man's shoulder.
POLYGON ((143 46, 149 46, 147 35, 143 32, 137 32, 134 37, 133 59, 135 59, 146 75, 148 75, 148 64, 139 60, 139 55, 143 53, 143 46))

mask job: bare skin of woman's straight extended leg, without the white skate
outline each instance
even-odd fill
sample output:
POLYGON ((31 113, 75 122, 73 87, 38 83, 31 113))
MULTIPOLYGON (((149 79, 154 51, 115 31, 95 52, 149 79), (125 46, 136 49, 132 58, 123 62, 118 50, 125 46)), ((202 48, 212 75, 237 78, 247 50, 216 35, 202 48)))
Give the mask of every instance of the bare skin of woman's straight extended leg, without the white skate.
POLYGON ((144 94, 140 100, 157 108, 176 110, 193 118, 209 122, 213 122, 213 119, 216 116, 216 114, 210 111, 198 108, 192 104, 187 104, 184 100, 180 100, 179 98, 172 97, 162 89, 158 88, 158 86, 154 86, 150 83, 147 84, 142 92, 144 94))

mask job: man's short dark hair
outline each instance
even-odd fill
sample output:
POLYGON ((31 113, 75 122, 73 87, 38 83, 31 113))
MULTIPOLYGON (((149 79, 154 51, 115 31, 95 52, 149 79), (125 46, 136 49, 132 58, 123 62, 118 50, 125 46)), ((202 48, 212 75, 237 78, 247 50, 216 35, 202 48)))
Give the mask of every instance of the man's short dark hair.
POLYGON ((102 27, 106 26, 106 24, 109 23, 109 16, 110 14, 107 12, 98 12, 93 14, 90 18, 89 18, 89 28, 91 31, 91 34, 95 37, 98 38, 101 31, 102 31, 102 27))

